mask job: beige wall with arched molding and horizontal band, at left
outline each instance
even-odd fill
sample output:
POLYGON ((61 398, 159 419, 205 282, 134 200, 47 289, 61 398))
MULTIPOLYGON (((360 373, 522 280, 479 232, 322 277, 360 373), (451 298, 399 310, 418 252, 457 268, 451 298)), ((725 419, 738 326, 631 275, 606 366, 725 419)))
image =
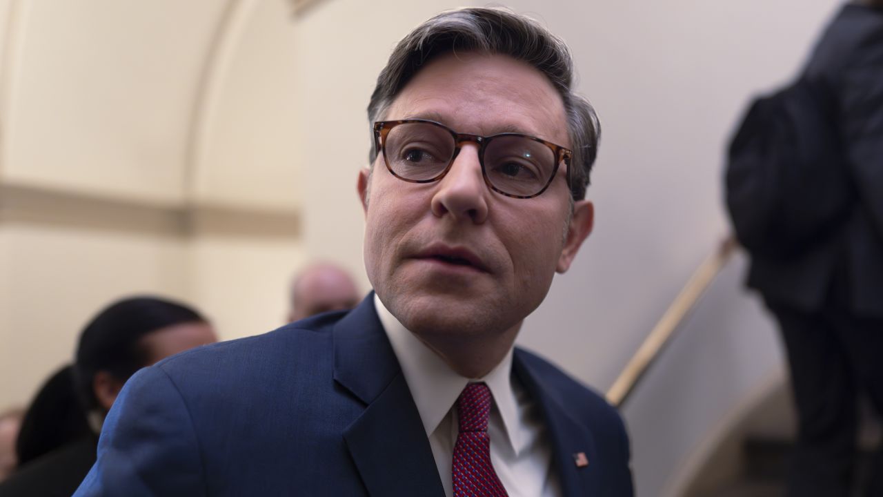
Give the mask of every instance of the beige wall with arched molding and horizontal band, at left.
POLYGON ((0 1, 0 407, 103 305, 283 324, 302 232, 296 27, 274 0, 0 1))

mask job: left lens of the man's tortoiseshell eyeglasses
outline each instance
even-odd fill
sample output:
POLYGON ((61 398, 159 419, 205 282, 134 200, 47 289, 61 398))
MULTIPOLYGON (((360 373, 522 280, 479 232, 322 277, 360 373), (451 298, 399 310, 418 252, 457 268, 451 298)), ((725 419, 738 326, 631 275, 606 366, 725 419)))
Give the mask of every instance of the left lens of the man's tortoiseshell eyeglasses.
POLYGON ((392 172, 405 180, 433 180, 448 167, 456 146, 440 126, 403 123, 389 130, 383 154, 392 172))

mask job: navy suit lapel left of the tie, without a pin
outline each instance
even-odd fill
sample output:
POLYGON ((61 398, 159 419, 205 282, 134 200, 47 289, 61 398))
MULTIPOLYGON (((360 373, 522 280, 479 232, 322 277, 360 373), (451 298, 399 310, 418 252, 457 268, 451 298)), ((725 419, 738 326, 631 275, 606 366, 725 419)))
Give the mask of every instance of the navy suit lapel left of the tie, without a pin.
POLYGON ((335 381, 366 404, 343 440, 368 493, 444 497, 417 406, 374 310, 374 293, 336 325, 333 336, 335 381))

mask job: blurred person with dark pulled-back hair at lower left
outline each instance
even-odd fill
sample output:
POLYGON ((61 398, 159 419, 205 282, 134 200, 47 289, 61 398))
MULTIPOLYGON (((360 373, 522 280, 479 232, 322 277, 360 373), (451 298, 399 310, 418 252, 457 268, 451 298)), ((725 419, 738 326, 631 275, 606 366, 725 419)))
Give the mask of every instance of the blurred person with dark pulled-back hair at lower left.
POLYGON ((70 496, 95 461, 97 433, 125 381, 215 341, 206 318, 179 302, 133 297, 99 312, 80 334, 75 363, 57 371, 28 408, 18 445, 29 460, 0 484, 0 497, 70 496))

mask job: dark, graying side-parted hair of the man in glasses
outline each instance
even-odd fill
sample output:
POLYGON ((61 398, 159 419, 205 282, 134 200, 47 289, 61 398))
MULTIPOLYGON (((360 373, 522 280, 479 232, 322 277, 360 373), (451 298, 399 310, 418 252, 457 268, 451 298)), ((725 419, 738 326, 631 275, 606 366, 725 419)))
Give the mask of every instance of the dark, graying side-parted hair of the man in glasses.
MULTIPOLYGON (((539 22, 504 8, 467 8, 445 11, 427 20, 398 42, 377 77, 368 103, 368 121, 382 120, 408 81, 435 57, 456 52, 502 54, 532 65, 562 97, 573 157, 570 194, 585 197, 589 172, 598 155, 600 123, 592 104, 577 95, 573 85, 573 58, 561 38, 539 22)), ((377 150, 368 155, 374 164, 377 150)))

